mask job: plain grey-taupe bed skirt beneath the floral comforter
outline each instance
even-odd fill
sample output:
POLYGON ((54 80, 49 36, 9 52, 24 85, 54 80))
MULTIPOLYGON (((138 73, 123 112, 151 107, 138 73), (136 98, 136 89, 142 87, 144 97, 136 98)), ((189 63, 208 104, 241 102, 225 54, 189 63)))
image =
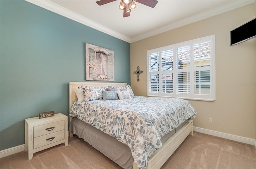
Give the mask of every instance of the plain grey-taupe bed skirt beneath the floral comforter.
MULTIPOLYGON (((187 120, 188 121, 188 120, 187 120)), ((178 129, 180 129, 187 121, 182 123, 178 128, 172 130, 161 138, 164 143, 168 140, 178 129)), ((133 168, 133 157, 130 148, 95 127, 85 123, 84 121, 74 117, 69 123, 69 131, 77 135, 79 138, 84 139, 87 143, 92 145, 95 149, 106 155, 112 161, 120 165, 124 169, 133 168)))

